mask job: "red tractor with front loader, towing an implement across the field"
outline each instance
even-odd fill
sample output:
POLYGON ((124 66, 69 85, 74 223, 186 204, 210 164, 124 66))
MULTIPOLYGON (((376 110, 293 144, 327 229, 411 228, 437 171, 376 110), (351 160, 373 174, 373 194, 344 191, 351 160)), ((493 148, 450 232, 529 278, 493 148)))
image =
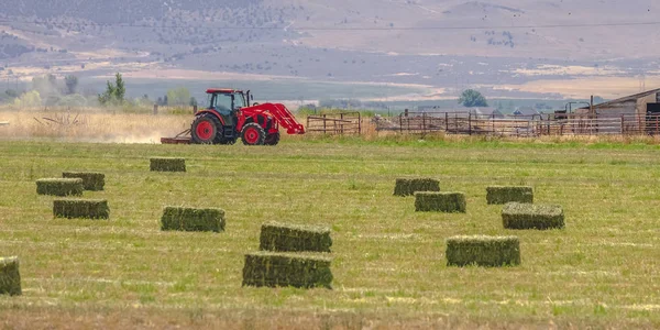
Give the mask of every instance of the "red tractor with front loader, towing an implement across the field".
POLYGON ((287 134, 305 134, 302 124, 284 105, 250 105, 250 90, 211 88, 207 94, 209 107, 196 113, 190 138, 163 138, 162 143, 233 144, 241 138, 245 145, 276 145, 279 127, 287 134))

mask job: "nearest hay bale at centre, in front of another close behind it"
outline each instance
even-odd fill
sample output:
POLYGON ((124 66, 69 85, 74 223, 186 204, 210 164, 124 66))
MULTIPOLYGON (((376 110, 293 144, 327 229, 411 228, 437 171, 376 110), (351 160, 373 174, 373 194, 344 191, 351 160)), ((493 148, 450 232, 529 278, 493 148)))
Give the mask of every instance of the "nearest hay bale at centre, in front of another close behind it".
POLYGON ((243 286, 332 288, 331 260, 311 254, 256 252, 245 254, 243 286))

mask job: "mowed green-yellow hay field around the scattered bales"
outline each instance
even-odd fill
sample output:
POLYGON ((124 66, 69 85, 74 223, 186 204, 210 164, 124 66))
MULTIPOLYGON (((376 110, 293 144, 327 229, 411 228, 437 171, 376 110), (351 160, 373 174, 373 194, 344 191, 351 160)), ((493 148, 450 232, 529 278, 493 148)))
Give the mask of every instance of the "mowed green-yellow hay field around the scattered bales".
POLYGON ((660 147, 534 142, 285 140, 243 145, 0 142, 0 255, 15 328, 660 327, 660 147), (184 157, 186 173, 150 172, 184 157), (99 172, 109 220, 54 219, 35 180, 99 172), (415 212, 399 177, 465 193, 466 213, 415 212), (486 187, 535 187, 565 229, 503 229, 486 187), (165 206, 226 210, 220 233, 163 232, 165 206), (241 287, 265 222, 326 226, 333 289, 241 287), (448 267, 446 239, 517 235, 515 267, 448 267))

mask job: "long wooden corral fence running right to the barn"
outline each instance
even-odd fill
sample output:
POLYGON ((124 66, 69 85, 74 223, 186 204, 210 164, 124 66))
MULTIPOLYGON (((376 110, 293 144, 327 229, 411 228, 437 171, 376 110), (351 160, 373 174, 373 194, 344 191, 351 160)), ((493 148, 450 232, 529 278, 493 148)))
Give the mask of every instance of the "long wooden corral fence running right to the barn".
POLYGON ((375 122, 376 131, 427 134, 499 135, 660 135, 660 116, 562 113, 516 117, 469 112, 404 112, 375 122))

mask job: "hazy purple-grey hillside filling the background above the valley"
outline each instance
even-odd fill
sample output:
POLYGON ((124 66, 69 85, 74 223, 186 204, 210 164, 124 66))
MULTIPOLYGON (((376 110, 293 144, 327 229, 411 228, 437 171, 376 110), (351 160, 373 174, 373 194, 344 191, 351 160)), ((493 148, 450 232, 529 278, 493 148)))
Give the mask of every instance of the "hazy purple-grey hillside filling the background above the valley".
POLYGON ((176 69, 524 97, 537 80, 658 74, 658 25, 619 25, 658 12, 651 0, 3 1, 0 61, 24 79, 176 69))

